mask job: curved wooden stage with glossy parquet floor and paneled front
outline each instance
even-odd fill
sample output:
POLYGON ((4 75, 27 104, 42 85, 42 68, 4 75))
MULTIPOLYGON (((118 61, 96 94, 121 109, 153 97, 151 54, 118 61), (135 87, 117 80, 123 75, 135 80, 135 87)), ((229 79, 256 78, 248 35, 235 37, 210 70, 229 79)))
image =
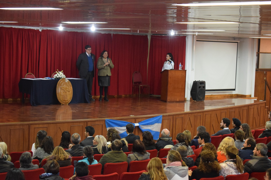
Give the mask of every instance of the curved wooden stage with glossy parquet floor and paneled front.
MULTIPOLYGON (((265 101, 251 99, 205 98, 205 101, 166 103, 160 98, 112 98, 109 102, 96 101, 90 104, 29 106, 20 102, 0 103, 0 141, 8 145, 8 152, 31 150, 39 130, 45 130, 54 139, 54 146, 60 143, 63 131, 77 132, 85 139, 85 126, 93 126, 95 135, 107 134, 105 119, 116 119, 138 123, 145 119, 163 115, 161 130, 169 129, 173 139, 184 130, 196 135, 196 128, 206 127, 214 134, 220 129, 222 118, 238 118, 251 129, 265 126, 267 110, 265 101), (17 110, 16 110, 17 109, 17 110), (131 116, 130 116, 131 115, 131 116), (98 118, 100 117, 100 118, 98 118), (27 119, 30 121, 27 122, 27 119)), ((233 128, 230 124, 230 129, 233 128)), ((142 132, 138 127, 134 134, 142 132)))

